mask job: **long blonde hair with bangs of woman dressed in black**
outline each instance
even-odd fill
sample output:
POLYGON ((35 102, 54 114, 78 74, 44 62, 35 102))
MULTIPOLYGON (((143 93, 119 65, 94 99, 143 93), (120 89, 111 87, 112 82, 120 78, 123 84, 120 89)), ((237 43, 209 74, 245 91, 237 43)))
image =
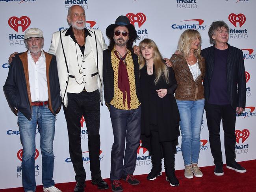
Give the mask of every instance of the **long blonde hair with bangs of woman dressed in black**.
MULTIPOLYGON (((156 43, 151 39, 144 39, 139 43, 139 49, 141 50, 142 47, 152 47, 153 48, 153 61, 155 66, 155 74, 156 78, 154 80, 155 85, 158 83, 160 77, 162 76, 166 83, 169 84, 169 70, 168 67, 163 63, 163 58, 158 50, 158 47, 156 46, 156 43)), ((145 66, 146 60, 142 56, 141 51, 139 55, 139 69, 143 68, 145 66)))

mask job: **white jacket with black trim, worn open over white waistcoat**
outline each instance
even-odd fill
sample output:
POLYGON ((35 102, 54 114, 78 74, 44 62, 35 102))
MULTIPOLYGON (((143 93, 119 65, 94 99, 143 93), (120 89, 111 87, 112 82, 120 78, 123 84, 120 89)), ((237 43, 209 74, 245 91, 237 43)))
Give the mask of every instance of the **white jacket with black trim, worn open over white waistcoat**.
MULTIPOLYGON (((102 64, 103 64, 103 53, 102 51, 107 48, 107 45, 104 41, 104 37, 100 30, 89 29, 90 35, 86 37, 86 43, 91 45, 93 56, 95 59, 95 65, 98 68, 98 90, 100 92, 100 102, 102 104, 103 94, 102 94, 102 64)), ((69 61, 77 60, 76 54, 70 54, 70 49, 74 49, 74 46, 70 42, 74 43, 70 35, 65 36, 67 30, 61 30, 53 33, 52 35, 52 44, 50 46, 49 54, 56 55, 57 66, 58 66, 58 75, 59 75, 59 85, 61 89, 62 102, 65 107, 67 107, 67 86, 69 83, 69 61), (65 54, 64 54, 65 53, 65 54)), ((72 74, 71 74, 72 75, 72 74)), ((93 78, 93 77, 91 77, 93 78)), ((90 84, 87 85, 86 89, 90 89, 90 84), (88 87, 89 86, 89 87, 88 87)))

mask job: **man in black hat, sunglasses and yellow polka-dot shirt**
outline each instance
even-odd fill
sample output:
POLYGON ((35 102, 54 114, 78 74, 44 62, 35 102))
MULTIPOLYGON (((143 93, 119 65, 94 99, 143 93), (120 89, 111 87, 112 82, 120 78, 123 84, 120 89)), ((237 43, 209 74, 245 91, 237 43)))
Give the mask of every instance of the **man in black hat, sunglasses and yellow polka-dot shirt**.
POLYGON ((112 191, 121 192, 123 188, 119 179, 131 185, 140 183, 132 175, 141 124, 139 63, 132 48, 137 34, 130 20, 121 15, 115 24, 108 26, 106 35, 110 43, 108 49, 103 51, 104 98, 114 135, 110 180, 112 191))

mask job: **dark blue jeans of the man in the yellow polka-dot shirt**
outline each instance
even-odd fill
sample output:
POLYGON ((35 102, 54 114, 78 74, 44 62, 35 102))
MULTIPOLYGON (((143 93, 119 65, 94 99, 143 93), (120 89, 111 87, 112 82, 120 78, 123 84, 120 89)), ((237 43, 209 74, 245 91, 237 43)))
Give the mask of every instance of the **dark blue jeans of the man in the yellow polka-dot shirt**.
POLYGON ((114 135, 110 180, 118 180, 122 175, 133 174, 135 170, 141 136, 141 106, 137 109, 122 110, 110 105, 110 118, 114 135))

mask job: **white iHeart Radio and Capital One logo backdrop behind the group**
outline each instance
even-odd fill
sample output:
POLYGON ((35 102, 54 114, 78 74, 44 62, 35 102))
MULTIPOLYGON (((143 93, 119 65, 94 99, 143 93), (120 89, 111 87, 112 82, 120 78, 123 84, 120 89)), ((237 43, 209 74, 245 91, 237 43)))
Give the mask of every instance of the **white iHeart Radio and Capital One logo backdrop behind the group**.
MULTIPOLYGON (((210 46, 208 30, 211 22, 224 20, 230 27, 229 44, 243 50, 247 82, 245 111, 236 121, 236 161, 256 159, 256 40, 254 0, 0 0, 0 82, 3 86, 9 70, 8 57, 13 52, 26 51, 24 31, 27 28, 40 28, 45 37, 44 50, 48 51, 52 33, 68 28, 67 9, 80 5, 85 9, 87 28, 105 30, 119 15, 126 15, 134 24, 140 40, 150 38, 158 45, 163 57, 170 58, 175 52, 178 38, 186 29, 196 29, 202 36, 202 48, 210 46), (254 82, 254 83, 253 83, 254 82), (254 87, 255 86, 255 87, 254 87)), ((17 117, 11 112, 4 92, 0 90, 1 129, 0 129, 0 188, 22 186, 20 143, 17 117)), ((109 112, 101 107, 100 120, 100 166, 103 178, 109 178, 110 153, 113 132, 109 112)), ((37 129, 38 130, 38 129, 37 129)), ((42 162, 40 135, 36 134, 35 175, 37 185, 42 185, 42 162)), ((223 130, 221 140, 224 144, 223 130)), ((87 179, 89 171, 88 136, 84 119, 81 119, 83 162, 87 179)), ((201 150, 199 166, 213 165, 210 152, 209 134, 204 115, 201 126, 201 150)), ((181 144, 181 137, 179 137, 181 144)), ((184 169, 181 145, 176 147, 176 170, 184 169)), ((223 145, 222 145, 223 146, 223 145)), ((57 116, 54 139, 54 180, 56 183, 74 181, 74 170, 69 156, 67 126, 63 110, 57 116)), ((223 162, 224 146, 223 146, 223 162)), ((134 175, 147 174, 151 170, 151 158, 141 146, 137 150, 134 175)), ((164 169, 163 169, 164 170, 164 169)))

